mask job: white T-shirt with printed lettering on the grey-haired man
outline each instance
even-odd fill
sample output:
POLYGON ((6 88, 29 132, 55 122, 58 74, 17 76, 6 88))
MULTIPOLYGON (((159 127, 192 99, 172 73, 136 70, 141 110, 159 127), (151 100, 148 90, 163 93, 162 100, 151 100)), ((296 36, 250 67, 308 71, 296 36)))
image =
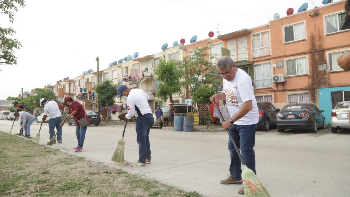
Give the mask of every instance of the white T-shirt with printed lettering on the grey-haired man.
POLYGON ((226 106, 231 117, 239 111, 244 102, 252 101, 253 104, 253 109, 248 111, 245 116, 241 117, 234 124, 257 124, 259 122, 259 111, 250 76, 238 68, 232 81, 223 79, 222 83, 222 92, 226 95, 226 106))

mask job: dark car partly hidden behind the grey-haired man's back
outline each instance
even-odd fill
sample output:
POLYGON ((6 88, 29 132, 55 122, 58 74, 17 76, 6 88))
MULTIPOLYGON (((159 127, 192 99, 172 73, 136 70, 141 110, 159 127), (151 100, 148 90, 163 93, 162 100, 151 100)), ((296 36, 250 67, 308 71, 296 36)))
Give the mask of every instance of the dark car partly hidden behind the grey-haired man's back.
POLYGON ((269 102, 257 102, 259 110, 258 127, 263 131, 268 131, 271 125, 276 125, 276 114, 279 109, 276 109, 269 102))

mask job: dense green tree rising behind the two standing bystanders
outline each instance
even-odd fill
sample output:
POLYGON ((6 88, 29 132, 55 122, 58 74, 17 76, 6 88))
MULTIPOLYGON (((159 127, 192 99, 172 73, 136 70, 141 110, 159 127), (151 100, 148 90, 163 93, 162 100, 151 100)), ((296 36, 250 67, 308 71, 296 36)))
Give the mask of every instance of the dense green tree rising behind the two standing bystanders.
POLYGON ((158 98, 166 101, 169 97, 170 102, 173 102, 173 94, 183 94, 184 83, 180 81, 183 72, 174 60, 166 62, 161 59, 154 74, 159 81, 156 92, 158 98))

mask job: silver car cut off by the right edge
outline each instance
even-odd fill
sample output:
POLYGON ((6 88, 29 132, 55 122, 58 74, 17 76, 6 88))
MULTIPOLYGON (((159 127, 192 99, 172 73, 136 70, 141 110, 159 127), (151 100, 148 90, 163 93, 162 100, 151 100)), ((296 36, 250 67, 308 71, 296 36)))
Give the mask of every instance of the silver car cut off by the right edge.
POLYGON ((330 118, 332 133, 337 133, 339 129, 350 129, 349 106, 350 101, 339 102, 332 110, 330 118))

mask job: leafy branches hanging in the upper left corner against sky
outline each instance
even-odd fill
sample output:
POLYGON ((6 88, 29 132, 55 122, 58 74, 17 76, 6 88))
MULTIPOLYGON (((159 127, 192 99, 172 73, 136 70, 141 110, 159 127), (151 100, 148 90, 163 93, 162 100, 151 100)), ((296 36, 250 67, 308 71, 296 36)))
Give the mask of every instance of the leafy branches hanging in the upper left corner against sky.
MULTIPOLYGON (((25 7, 24 0, 0 0, 0 12, 7 15, 11 23, 15 20, 14 12, 18 11, 17 6, 25 7)), ((10 38, 14 33, 15 30, 10 27, 0 27, 0 66, 17 64, 14 49, 19 49, 22 45, 18 40, 10 38)))

